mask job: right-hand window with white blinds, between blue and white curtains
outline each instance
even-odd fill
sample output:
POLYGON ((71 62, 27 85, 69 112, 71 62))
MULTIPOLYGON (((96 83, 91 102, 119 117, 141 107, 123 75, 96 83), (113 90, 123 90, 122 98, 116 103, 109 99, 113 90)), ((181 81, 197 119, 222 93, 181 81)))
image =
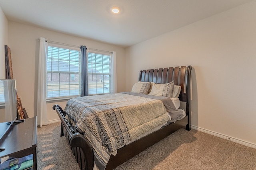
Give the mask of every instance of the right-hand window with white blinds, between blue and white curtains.
POLYGON ((87 55, 89 95, 110 93, 110 54, 88 50, 87 55))

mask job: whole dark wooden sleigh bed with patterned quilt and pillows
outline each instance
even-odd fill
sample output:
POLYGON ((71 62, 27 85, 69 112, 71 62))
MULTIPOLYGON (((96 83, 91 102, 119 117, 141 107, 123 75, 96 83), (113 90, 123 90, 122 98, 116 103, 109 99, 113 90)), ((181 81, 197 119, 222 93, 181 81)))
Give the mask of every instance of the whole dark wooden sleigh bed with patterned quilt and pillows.
MULTIPOLYGON (((53 109, 61 120, 60 135, 66 137, 80 169, 111 170, 178 129, 186 128, 189 131, 191 68, 176 66, 141 70, 132 93, 74 98, 67 102, 64 110, 54 105, 53 109), (145 93, 148 84, 150 90, 145 93), (137 85, 144 91, 136 92, 137 85), (154 92, 158 92, 158 87, 167 87, 166 85, 178 87, 180 91, 174 97, 178 99, 178 103, 177 100, 172 99, 170 102, 168 97, 154 95, 154 92), (170 103, 170 106, 166 106, 166 103, 170 103), (96 110, 99 111, 95 116, 92 112, 96 110), (141 112, 136 113, 138 110, 141 112), (145 119, 145 122, 137 123, 141 119, 145 119), (93 123, 92 120, 97 122, 93 123), (98 126, 102 129, 96 130, 98 126)), ((173 90, 166 90, 164 94, 172 93, 173 90)))

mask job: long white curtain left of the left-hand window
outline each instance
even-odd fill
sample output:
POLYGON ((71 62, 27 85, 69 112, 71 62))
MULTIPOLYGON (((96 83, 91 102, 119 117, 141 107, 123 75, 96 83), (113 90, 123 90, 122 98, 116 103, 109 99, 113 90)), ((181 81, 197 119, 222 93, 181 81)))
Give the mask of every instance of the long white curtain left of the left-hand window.
POLYGON ((38 89, 37 89, 37 125, 48 125, 46 107, 46 84, 47 84, 47 54, 48 41, 40 38, 39 61, 38 61, 38 89))

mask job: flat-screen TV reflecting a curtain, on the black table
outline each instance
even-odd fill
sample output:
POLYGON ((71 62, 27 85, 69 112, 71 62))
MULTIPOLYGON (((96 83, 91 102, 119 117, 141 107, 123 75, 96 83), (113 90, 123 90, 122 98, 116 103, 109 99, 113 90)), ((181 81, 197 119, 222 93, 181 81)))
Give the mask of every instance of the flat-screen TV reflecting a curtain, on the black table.
POLYGON ((16 80, 0 79, 0 142, 17 119, 16 80))

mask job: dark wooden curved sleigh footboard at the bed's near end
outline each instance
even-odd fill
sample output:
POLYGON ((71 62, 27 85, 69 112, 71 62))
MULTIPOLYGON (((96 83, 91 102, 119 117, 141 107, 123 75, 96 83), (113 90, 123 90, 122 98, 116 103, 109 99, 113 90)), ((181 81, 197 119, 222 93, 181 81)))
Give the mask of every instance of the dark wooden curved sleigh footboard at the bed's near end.
POLYGON ((80 133, 76 133, 74 128, 67 121, 65 113, 58 105, 52 107, 61 120, 60 136, 65 136, 70 145, 72 152, 79 164, 81 170, 92 170, 94 166, 94 154, 89 142, 80 133))

